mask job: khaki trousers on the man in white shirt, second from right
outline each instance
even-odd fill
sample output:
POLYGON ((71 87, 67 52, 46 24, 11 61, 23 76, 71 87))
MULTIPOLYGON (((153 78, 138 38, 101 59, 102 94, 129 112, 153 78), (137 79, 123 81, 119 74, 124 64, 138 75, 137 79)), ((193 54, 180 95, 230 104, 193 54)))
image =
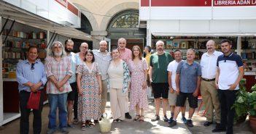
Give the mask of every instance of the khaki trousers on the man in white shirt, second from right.
POLYGON ((206 107, 206 120, 208 122, 213 121, 215 112, 215 121, 220 123, 220 100, 218 98, 218 92, 215 88, 213 81, 201 80, 201 95, 204 106, 206 107))

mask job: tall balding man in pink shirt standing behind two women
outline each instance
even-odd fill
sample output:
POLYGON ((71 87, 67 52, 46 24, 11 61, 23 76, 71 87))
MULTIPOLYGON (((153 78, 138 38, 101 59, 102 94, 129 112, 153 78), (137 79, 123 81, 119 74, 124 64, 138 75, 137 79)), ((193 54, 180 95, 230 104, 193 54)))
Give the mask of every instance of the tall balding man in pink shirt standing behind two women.
MULTIPOLYGON (((125 46, 126 46, 125 38, 119 38, 118 39, 118 51, 120 52, 120 58, 123 59, 123 61, 128 62, 128 60, 131 59, 131 50, 126 49, 125 46)), ((131 119, 131 115, 129 114, 128 92, 125 96, 125 118, 131 119)))

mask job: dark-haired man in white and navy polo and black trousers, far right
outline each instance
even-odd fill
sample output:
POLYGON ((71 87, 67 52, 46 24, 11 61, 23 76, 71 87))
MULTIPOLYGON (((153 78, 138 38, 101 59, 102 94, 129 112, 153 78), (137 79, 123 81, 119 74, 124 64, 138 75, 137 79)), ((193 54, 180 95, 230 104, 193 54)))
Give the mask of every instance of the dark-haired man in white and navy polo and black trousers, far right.
POLYGON ((213 133, 227 130, 227 134, 233 133, 233 118, 235 109, 231 109, 236 101, 236 92, 239 82, 244 77, 244 66, 241 56, 231 52, 232 44, 229 40, 221 41, 223 54, 217 59, 217 74, 215 85, 218 88, 220 99, 220 125, 217 125, 213 133))

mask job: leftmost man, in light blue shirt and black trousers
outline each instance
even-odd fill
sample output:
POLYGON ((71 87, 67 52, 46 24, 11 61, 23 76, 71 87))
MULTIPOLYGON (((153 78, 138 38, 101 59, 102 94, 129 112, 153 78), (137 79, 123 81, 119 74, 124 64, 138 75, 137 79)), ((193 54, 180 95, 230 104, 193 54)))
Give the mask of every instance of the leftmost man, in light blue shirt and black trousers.
MULTIPOLYGON (((28 59, 17 64, 17 82, 20 94, 20 133, 28 134, 29 114, 31 109, 27 108, 28 99, 31 92, 42 91, 47 78, 44 72, 44 64, 36 60, 38 49, 36 46, 30 46, 27 53, 28 59)), ((42 130, 42 106, 43 93, 40 96, 39 109, 34 109, 33 131, 36 134, 42 130)))

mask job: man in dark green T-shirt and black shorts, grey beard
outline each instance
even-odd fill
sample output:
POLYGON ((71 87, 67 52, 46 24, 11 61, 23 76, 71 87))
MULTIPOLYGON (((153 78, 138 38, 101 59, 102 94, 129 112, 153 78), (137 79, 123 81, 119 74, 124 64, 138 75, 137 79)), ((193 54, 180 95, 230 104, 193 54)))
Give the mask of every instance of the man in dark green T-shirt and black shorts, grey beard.
POLYGON ((167 66, 172 61, 171 55, 164 51, 163 41, 158 41, 156 44, 157 52, 150 56, 150 82, 155 98, 155 118, 152 122, 160 120, 160 101, 163 98, 163 120, 168 121, 166 117, 166 108, 168 103, 168 72, 167 66))

